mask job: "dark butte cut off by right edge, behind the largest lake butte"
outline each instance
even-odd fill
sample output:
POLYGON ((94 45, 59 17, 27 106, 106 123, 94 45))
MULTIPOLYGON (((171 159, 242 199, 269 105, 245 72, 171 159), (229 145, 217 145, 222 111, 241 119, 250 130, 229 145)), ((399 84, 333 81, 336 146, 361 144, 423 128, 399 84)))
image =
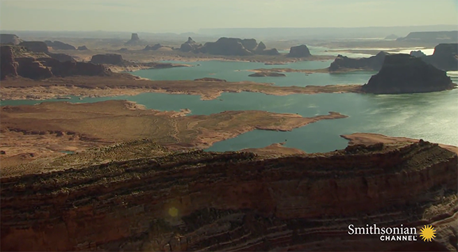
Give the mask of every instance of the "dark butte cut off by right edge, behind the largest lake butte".
POLYGON ((439 44, 434 47, 434 54, 423 60, 441 70, 458 70, 458 44, 439 44))

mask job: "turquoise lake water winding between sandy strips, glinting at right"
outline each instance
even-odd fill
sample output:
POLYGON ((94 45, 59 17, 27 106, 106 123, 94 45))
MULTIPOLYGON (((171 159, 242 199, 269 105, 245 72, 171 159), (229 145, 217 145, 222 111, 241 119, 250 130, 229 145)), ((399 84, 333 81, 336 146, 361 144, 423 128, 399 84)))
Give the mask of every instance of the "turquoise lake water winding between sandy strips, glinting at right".
MULTIPOLYGON (((373 72, 347 74, 289 74, 287 77, 247 77, 255 68, 323 68, 329 62, 300 62, 289 65, 264 65, 230 61, 204 61, 193 68, 142 70, 135 75, 150 79, 196 79, 215 77, 228 81, 272 82, 279 86, 328 84, 365 84, 373 72), (236 72, 236 70, 242 70, 236 72), (210 74, 210 75, 208 75, 210 74)), ((448 72, 455 83, 458 72, 448 72)), ((135 96, 84 98, 72 97, 67 102, 98 102, 131 100, 148 109, 190 109, 192 114, 211 114, 229 110, 264 110, 277 113, 298 113, 317 116, 337 111, 349 118, 321 120, 291 132, 254 130, 234 139, 215 143, 208 150, 225 151, 261 148, 286 141, 286 146, 306 152, 327 152, 345 148, 347 141, 339 135, 372 132, 390 136, 406 136, 436 143, 458 145, 458 90, 412 95, 367 95, 355 93, 316 95, 264 95, 262 93, 223 93, 218 99, 202 101, 197 95, 143 93, 135 96)), ((49 100, 63 101, 63 100, 49 100)), ((40 101, 0 101, 1 105, 37 104, 40 101)))

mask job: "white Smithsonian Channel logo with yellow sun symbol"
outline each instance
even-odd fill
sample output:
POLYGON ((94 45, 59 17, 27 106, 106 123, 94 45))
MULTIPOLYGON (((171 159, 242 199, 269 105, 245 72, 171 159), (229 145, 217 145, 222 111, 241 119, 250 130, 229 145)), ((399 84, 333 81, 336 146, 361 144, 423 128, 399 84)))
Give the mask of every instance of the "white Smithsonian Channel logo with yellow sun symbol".
POLYGON ((431 242, 436 238, 436 229, 431 225, 425 225, 420 230, 417 228, 407 228, 402 224, 400 227, 386 228, 378 227, 376 224, 365 227, 355 227, 353 224, 349 225, 349 235, 378 235, 381 241, 384 242, 415 242, 422 239, 423 242, 431 242))

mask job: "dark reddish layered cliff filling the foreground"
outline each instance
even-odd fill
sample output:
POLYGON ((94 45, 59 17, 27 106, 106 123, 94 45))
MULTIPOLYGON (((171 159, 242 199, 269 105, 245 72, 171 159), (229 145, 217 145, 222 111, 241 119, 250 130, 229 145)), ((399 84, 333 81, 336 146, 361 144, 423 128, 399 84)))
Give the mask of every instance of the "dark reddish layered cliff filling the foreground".
POLYGON ((457 194, 457 155, 424 141, 273 159, 246 152, 169 154, 0 179, 0 247, 456 251, 458 225, 446 218, 456 211, 457 194), (350 224, 373 223, 436 223, 439 232, 433 242, 347 233, 350 224))

